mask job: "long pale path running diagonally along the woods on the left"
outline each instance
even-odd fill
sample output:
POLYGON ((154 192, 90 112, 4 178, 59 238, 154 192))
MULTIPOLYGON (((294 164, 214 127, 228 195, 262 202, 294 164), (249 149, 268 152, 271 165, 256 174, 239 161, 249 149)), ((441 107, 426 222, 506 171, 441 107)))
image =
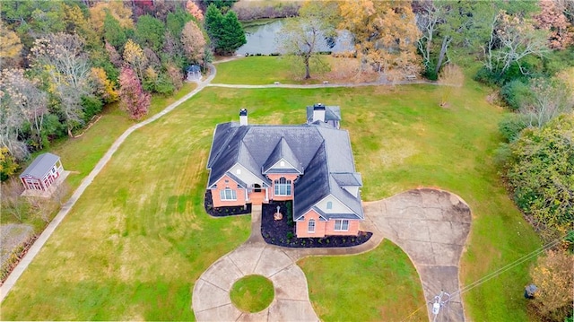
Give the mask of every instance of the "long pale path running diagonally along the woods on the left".
POLYGON ((8 295, 8 293, 12 290, 14 284, 18 281, 20 276, 22 276, 26 268, 28 268, 28 265, 30 265, 32 259, 34 259, 36 255, 38 255, 39 250, 44 246, 44 244, 46 244, 48 238, 52 235, 52 233, 54 233, 54 231, 56 231, 57 226, 64 220, 65 216, 70 212, 72 207, 75 205, 76 201, 80 198, 80 196, 83 195, 83 192, 86 190, 86 188, 90 186, 91 181, 93 181, 93 179, 96 178, 96 176, 100 173, 100 171, 104 168, 104 166, 106 166, 109 159, 111 159, 112 155, 114 155, 119 146, 123 144, 124 141, 126 141, 127 136, 131 135, 136 129, 142 126, 146 126, 152 123, 153 121, 157 120, 158 118, 168 114, 171 110, 177 108, 181 103, 183 103, 186 100, 189 100, 189 98, 196 95, 196 93, 198 93, 199 91, 203 90, 205 86, 208 83, 210 83, 215 77, 216 72, 213 66, 212 68, 210 68, 210 72, 211 73, 209 77, 207 77, 203 82, 197 83, 197 87, 194 91, 190 91, 186 96, 170 104, 170 106, 163 109, 158 114, 138 124, 135 124, 134 126, 129 127, 126 130, 126 132, 124 132, 117 138, 114 144, 112 144, 111 147, 109 148, 108 152, 104 154, 104 156, 100 159, 100 161, 98 161, 94 169, 91 170, 90 174, 86 178, 83 178, 80 187, 78 187, 74 191, 74 194, 70 197, 70 199, 68 199, 68 201, 64 205, 62 205, 62 208, 57 213, 56 217, 54 217, 52 222, 48 224, 48 227, 46 227, 46 229, 42 231, 42 233, 39 235, 39 238, 36 239, 34 244, 30 247, 30 249, 28 249, 28 252, 22 258, 20 263, 18 263, 18 265, 14 267, 12 273, 10 273, 6 281, 4 281, 2 286, 0 286, 0 303, 5 299, 6 295, 8 295))

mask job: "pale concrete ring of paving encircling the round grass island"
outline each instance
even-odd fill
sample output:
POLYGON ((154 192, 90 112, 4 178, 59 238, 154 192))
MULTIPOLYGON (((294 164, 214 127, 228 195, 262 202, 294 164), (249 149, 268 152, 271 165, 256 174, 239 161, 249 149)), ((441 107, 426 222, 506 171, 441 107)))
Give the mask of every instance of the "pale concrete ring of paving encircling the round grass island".
POLYGON ((201 275, 192 302, 198 321, 317 321, 307 290, 305 274, 280 248, 247 242, 201 275), (242 312, 230 300, 233 283, 249 274, 274 284, 274 300, 261 312, 242 312))

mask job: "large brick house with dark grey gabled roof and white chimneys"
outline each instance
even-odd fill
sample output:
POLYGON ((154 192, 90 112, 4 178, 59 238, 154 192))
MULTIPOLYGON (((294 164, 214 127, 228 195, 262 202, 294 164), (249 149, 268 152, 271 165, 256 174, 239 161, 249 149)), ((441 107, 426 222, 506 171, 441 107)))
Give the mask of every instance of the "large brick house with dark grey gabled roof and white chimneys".
POLYGON ((239 123, 219 124, 207 161, 213 207, 292 200, 297 237, 357 235, 361 174, 340 110, 328 108, 337 119, 316 104, 304 125, 248 125, 246 109, 239 123))

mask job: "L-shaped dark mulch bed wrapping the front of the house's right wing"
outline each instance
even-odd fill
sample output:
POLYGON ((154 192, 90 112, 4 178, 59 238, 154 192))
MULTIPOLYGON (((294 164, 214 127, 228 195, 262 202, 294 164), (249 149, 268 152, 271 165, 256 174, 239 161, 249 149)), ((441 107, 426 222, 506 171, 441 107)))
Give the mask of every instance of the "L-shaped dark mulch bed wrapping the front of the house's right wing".
POLYGON ((295 222, 293 222, 291 207, 291 201, 272 201, 268 205, 263 205, 261 235, 267 244, 288 248, 352 247, 361 245, 373 235, 369 231, 360 231, 359 236, 297 238, 295 237, 295 222), (280 212, 283 213, 283 219, 279 221, 275 221, 273 216, 277 212, 277 206, 280 207, 280 212))

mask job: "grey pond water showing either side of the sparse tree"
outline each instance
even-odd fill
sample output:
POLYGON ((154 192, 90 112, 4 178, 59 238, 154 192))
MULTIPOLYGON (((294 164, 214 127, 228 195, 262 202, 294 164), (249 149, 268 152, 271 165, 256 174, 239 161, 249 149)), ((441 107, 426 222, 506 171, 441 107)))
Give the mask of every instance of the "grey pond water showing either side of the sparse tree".
MULTIPOLYGON (((282 26, 282 20, 275 20, 265 24, 246 27, 245 37, 248 42, 241 46, 236 54, 269 55, 279 52, 275 42, 275 35, 281 30, 282 26)), ((347 30, 338 31, 338 36, 335 39, 324 39, 319 46, 319 51, 332 51, 334 53, 351 50, 352 35, 347 30)))

